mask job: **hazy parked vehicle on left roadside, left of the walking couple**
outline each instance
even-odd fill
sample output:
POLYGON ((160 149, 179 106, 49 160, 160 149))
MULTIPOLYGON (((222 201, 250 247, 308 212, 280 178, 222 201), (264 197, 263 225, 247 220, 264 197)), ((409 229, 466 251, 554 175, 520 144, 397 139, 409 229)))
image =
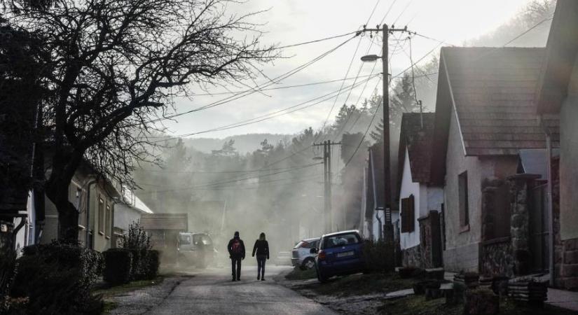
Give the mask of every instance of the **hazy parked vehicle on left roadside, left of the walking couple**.
POLYGON ((179 233, 179 247, 177 262, 179 265, 195 265, 205 268, 212 265, 216 249, 213 246, 211 236, 207 233, 179 233))

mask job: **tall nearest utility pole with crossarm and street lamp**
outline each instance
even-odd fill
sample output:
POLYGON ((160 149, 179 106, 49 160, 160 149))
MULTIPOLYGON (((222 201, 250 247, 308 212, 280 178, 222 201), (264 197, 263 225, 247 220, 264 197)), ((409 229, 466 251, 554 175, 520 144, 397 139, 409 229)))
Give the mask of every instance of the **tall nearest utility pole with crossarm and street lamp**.
MULTIPOLYGON (((387 246, 386 257, 390 259, 387 265, 394 268, 394 244, 393 244, 393 225, 392 225, 392 180, 391 180, 391 162, 390 162, 390 73, 389 73, 389 36, 394 32, 408 32, 407 27, 403 29, 396 29, 393 25, 391 28, 383 25, 380 29, 379 25, 375 29, 367 29, 364 25, 362 31, 375 31, 376 33, 382 31, 383 34, 383 48, 381 55, 381 62, 383 66, 383 184, 385 188, 385 202, 384 214, 385 223, 383 226, 383 237, 387 246)), ((376 61, 379 59, 377 55, 367 55, 362 57, 362 61, 376 61)))

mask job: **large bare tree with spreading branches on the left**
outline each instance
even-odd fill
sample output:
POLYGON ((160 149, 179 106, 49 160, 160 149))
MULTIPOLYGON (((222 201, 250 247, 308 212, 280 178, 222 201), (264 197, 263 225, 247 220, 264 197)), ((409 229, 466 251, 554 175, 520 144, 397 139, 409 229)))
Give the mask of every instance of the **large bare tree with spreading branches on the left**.
POLYGON ((150 160, 147 134, 193 88, 253 80, 277 57, 262 47, 257 13, 228 15, 227 0, 62 0, 5 16, 43 38, 51 54, 43 100, 50 134, 46 195, 60 239, 77 239, 68 186, 83 160, 108 179, 131 183, 150 160))

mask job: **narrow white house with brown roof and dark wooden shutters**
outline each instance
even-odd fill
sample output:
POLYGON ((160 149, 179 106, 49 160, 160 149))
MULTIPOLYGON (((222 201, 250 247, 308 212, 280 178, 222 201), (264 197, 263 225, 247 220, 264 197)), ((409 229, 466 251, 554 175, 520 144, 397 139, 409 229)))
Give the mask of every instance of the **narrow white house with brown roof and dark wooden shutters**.
POLYGON ((399 137, 399 244, 405 267, 441 267, 443 189, 429 184, 435 113, 404 113, 399 137))

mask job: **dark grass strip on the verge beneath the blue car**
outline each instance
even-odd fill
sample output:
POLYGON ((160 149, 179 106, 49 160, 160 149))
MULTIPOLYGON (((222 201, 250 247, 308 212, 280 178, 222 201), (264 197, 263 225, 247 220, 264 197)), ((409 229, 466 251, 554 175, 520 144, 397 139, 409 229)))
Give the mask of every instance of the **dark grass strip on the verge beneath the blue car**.
POLYGON ((323 295, 365 295, 411 288, 416 279, 401 279, 397 274, 352 274, 330 279, 312 288, 323 295))

